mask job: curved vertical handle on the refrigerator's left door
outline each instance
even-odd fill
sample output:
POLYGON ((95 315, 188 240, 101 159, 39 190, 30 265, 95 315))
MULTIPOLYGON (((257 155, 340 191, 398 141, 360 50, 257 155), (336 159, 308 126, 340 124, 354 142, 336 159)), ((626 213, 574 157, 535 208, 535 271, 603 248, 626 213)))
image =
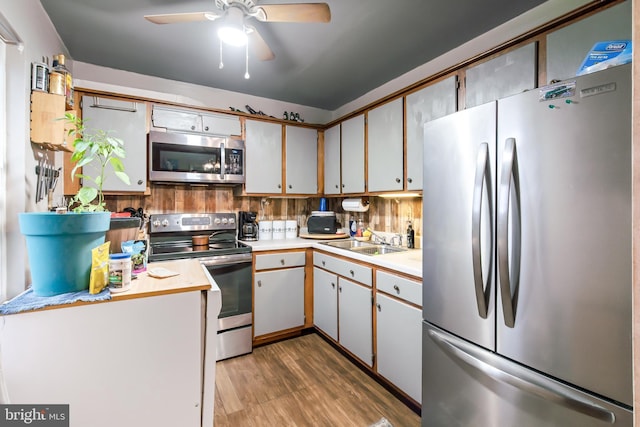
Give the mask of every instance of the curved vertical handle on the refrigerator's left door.
MULTIPOLYGON (((478 150, 478 156, 476 160, 476 176, 473 187, 473 207, 471 211, 471 253, 473 257, 473 282, 476 291, 476 302, 478 304, 478 314, 483 319, 487 318, 489 297, 491 288, 488 286, 491 280, 491 269, 489 269, 487 285, 482 277, 482 249, 480 240, 480 228, 482 225, 482 195, 484 194, 485 180, 490 179, 491 170, 489 169, 489 144, 483 142, 480 144, 478 150)), ((487 185, 487 199, 489 203, 489 223, 493 222, 491 206, 493 206, 493 197, 491 193, 490 183, 487 185)), ((493 230, 489 233, 493 235, 493 230)), ((491 245, 491 251, 493 253, 493 242, 491 245)))

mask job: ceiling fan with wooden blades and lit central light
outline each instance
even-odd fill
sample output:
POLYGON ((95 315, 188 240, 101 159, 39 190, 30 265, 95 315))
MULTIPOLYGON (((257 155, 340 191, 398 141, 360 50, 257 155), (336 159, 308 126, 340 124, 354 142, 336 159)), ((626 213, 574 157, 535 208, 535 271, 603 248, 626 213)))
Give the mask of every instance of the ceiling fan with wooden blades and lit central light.
POLYGON ((261 22, 329 22, 331 11, 327 3, 292 3, 257 5, 253 0, 215 0, 217 11, 169 13, 145 15, 154 24, 224 20, 218 35, 229 44, 244 45, 247 42, 258 59, 275 58, 273 51, 255 27, 246 22, 255 18, 261 22), (225 30, 227 34, 225 34, 225 30), (239 38, 236 38, 239 37, 239 38))

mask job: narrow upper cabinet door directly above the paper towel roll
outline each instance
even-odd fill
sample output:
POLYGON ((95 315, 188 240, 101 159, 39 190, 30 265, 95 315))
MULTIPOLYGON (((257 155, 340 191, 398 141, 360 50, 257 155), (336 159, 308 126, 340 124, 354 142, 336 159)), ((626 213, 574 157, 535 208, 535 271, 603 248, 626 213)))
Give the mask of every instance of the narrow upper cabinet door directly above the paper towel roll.
POLYGON ((364 193, 364 115, 342 122, 342 192, 364 193))

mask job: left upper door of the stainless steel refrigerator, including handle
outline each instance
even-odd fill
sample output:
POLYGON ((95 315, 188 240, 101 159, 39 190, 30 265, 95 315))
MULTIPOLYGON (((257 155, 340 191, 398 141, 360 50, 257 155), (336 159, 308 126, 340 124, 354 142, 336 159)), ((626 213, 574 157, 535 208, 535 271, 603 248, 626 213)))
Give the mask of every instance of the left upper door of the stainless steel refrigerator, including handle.
POLYGON ((423 318, 495 347, 496 104, 424 127, 423 318))

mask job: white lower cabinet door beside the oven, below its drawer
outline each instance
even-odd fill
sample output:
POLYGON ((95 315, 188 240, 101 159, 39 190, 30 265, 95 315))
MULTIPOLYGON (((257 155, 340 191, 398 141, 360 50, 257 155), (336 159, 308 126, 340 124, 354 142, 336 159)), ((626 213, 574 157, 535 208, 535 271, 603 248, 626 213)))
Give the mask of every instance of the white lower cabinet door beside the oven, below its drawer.
POLYGON ((254 336, 304 325, 304 267, 254 275, 254 336))

